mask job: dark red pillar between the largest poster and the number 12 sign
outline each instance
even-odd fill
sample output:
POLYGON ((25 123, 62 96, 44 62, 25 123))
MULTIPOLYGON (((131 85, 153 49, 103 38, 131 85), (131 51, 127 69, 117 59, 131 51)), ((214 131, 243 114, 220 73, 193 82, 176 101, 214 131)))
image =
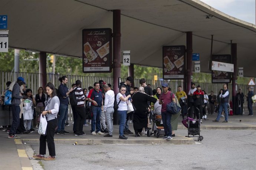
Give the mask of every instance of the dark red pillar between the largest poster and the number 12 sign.
MULTIPOLYGON (((121 77, 121 10, 113 10, 113 89, 119 93, 118 77, 121 77)), ((113 115, 113 124, 118 125, 118 114, 113 115)))

